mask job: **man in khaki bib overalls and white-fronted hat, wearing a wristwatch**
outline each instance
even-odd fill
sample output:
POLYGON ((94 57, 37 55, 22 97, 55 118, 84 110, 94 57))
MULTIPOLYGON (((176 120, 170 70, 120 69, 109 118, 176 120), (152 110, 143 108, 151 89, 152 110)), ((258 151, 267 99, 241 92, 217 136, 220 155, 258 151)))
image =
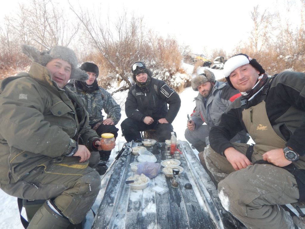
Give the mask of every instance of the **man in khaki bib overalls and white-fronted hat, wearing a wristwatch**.
POLYGON ((281 205, 305 200, 305 74, 269 78, 242 53, 228 59, 223 72, 242 96, 211 129, 204 151, 221 202, 247 228, 295 228, 281 205), (255 144, 231 142, 240 130, 255 144))

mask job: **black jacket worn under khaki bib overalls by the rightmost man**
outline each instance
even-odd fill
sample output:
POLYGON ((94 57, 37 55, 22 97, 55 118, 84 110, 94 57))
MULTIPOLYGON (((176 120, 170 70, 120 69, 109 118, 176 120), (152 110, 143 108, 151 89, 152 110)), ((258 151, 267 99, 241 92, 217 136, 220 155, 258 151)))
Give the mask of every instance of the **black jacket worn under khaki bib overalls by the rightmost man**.
MULTIPOLYGON (((269 80, 267 81, 267 83, 269 80)), ((209 135, 210 145, 217 153, 233 147, 230 139, 241 130, 247 130, 242 121, 242 111, 259 104, 263 100, 260 91, 252 100, 241 106, 237 98, 221 115, 219 124, 209 135)), ((305 74, 282 72, 274 77, 266 97, 266 111, 269 121, 278 136, 285 140, 300 156, 305 155, 305 74)), ((255 142, 255 139, 253 139, 255 142)))

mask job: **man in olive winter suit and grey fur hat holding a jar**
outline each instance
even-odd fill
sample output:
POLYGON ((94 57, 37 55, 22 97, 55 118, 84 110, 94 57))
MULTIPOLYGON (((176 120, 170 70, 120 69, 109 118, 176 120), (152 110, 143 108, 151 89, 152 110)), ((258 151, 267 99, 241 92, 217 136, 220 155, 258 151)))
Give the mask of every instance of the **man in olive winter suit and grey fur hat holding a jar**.
POLYGON ((28 200, 47 200, 28 229, 79 224, 93 205, 100 176, 99 136, 84 101, 65 88, 87 80, 75 53, 63 46, 39 52, 22 45, 28 73, 0 82, 0 188, 28 200), (91 167, 90 167, 91 166, 91 167))

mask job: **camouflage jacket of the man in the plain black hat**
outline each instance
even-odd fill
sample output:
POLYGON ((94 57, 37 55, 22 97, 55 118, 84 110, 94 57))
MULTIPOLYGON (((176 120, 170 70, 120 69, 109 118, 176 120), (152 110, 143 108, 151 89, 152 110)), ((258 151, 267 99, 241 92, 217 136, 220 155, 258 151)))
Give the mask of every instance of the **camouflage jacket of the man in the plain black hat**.
POLYGON ((121 107, 105 89, 99 87, 99 90, 88 92, 76 87, 74 82, 69 82, 66 87, 86 101, 90 125, 103 121, 104 115, 102 115, 102 109, 106 112, 107 118, 113 120, 114 125, 117 125, 120 121, 121 107))

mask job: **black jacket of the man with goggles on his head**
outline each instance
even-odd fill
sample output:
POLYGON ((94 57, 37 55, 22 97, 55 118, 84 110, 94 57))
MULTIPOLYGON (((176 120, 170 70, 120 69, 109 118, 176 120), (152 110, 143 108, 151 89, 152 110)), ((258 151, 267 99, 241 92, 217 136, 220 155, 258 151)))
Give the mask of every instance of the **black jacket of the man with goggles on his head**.
POLYGON ((154 120, 166 118, 167 122, 172 123, 180 106, 180 97, 174 89, 162 80, 151 78, 144 90, 137 84, 131 86, 125 102, 125 112, 128 118, 139 122, 150 116, 154 120))

